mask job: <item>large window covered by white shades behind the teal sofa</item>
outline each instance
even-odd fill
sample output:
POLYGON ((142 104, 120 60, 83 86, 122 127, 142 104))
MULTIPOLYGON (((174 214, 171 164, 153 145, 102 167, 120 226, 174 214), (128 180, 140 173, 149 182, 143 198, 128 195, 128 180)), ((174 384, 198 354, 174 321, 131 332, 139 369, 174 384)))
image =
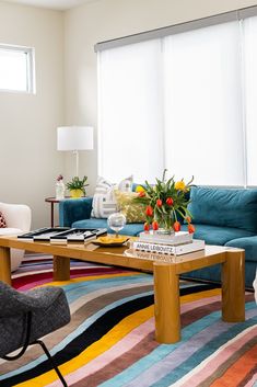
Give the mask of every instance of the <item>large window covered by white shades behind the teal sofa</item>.
POLYGON ((100 168, 257 185, 257 18, 98 53, 100 168))

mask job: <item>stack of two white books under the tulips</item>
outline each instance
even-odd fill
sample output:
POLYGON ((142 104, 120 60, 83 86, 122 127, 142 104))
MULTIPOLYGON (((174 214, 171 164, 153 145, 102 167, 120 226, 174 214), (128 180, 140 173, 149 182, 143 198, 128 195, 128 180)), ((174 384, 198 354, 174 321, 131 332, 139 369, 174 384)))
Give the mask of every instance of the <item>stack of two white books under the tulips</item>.
POLYGON ((149 231, 140 232, 139 239, 132 241, 130 247, 139 251, 182 255, 192 251, 203 250, 205 241, 192 239, 192 234, 186 231, 178 231, 173 235, 149 231))

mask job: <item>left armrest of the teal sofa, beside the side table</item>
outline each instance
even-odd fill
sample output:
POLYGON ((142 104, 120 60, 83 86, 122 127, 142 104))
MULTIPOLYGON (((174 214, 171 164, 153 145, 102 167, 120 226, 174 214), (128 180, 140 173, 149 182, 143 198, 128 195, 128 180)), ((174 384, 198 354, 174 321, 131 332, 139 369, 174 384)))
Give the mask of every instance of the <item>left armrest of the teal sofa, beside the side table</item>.
POLYGON ((66 198, 59 203, 59 224, 71 227, 73 221, 90 219, 93 197, 66 198))

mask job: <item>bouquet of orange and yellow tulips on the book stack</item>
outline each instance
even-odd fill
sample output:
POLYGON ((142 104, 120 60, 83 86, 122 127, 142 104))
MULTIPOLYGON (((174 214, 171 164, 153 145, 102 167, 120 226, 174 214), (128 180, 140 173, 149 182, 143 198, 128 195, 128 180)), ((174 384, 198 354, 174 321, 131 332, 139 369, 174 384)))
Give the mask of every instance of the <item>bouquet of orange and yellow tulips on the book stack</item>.
POLYGON ((147 221, 144 231, 153 230, 172 234, 180 230, 180 223, 186 221, 188 232, 195 232, 191 214, 187 206, 190 202, 189 191, 194 178, 186 184, 183 180, 175 182, 174 177, 165 181, 166 169, 162 180, 156 179, 155 185, 145 181, 145 186, 138 187, 137 203, 145 206, 147 221))

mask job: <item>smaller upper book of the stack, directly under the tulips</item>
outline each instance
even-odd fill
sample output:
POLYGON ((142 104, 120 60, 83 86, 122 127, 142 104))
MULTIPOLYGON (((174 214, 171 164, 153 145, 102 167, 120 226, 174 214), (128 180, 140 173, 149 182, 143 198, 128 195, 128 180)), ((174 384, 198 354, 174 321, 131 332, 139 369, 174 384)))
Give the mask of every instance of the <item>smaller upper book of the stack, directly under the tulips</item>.
POLYGON ((140 232, 139 240, 142 242, 150 243, 164 243, 164 244, 182 244, 192 241, 192 234, 187 231, 178 231, 172 235, 159 234, 157 231, 144 231, 140 232))

